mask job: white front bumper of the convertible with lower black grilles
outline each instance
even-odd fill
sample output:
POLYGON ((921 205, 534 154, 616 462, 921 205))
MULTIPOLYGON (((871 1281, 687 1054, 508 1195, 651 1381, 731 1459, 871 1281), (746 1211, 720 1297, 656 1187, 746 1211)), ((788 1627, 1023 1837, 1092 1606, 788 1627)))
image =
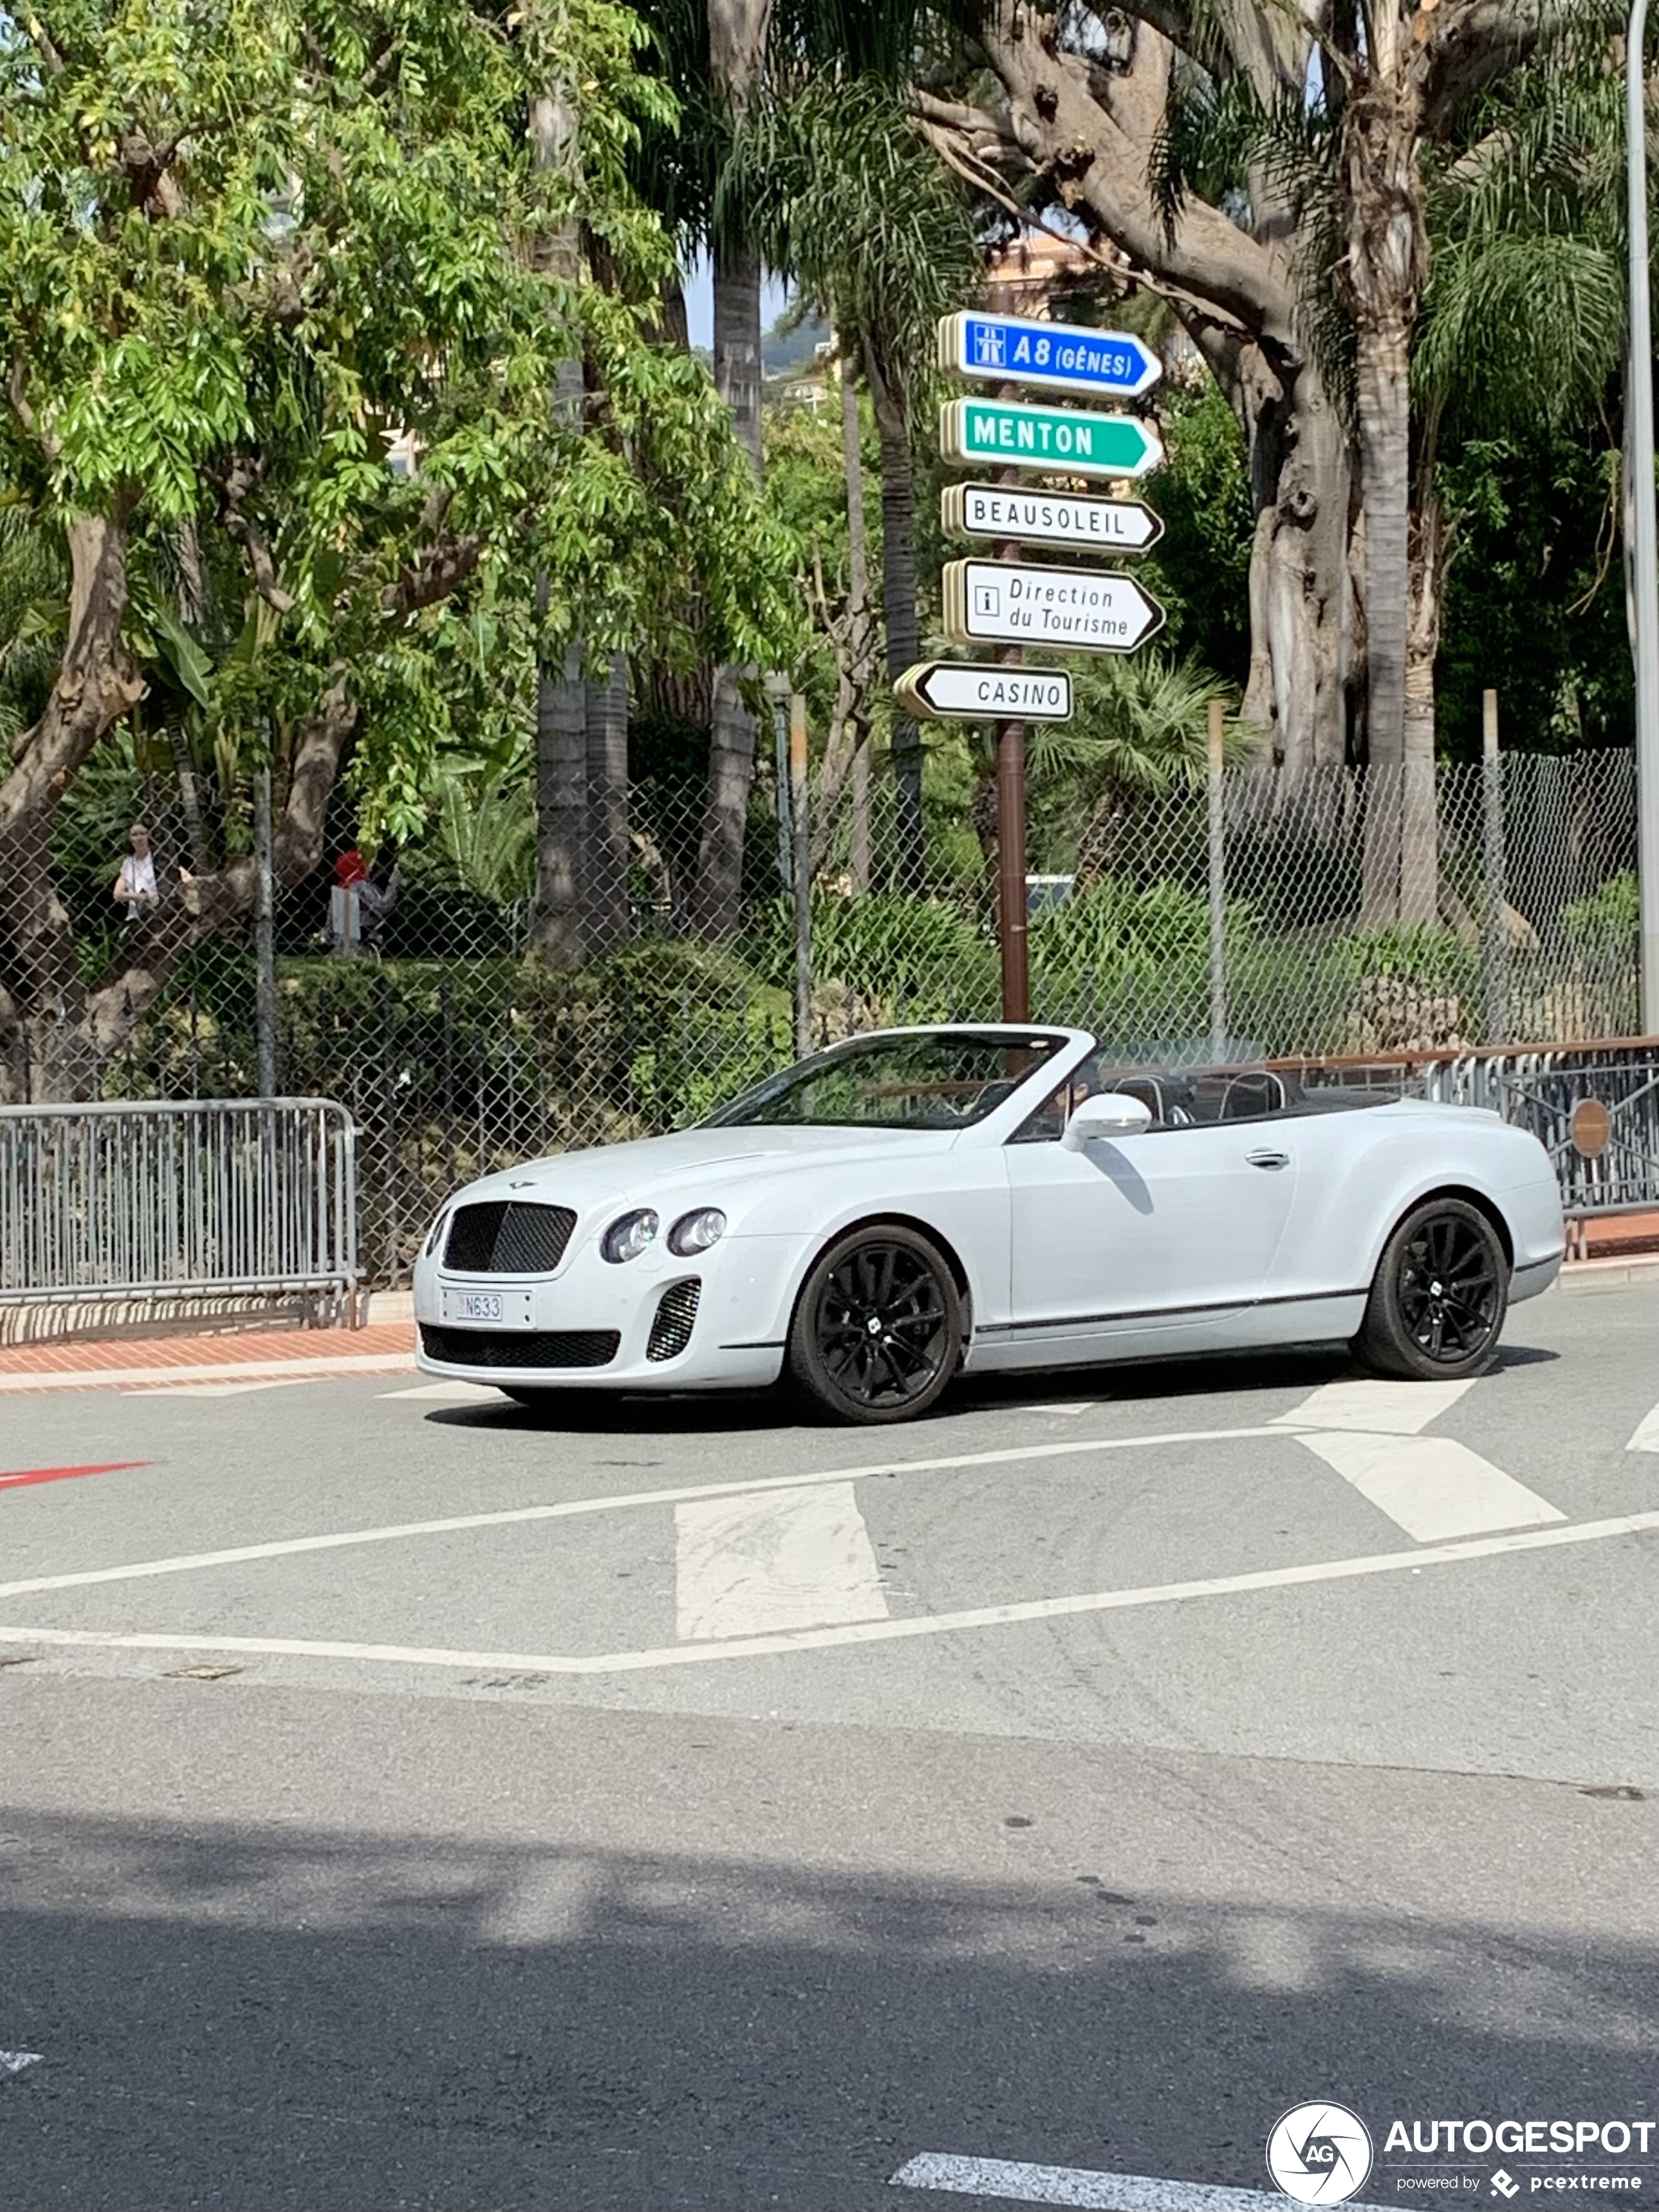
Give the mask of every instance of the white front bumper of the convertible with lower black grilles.
POLYGON ((502 1389, 761 1387, 783 1371, 803 1263, 799 1237, 726 1237, 695 1259, 653 1248, 624 1265, 604 1261, 588 1241, 549 1276, 460 1274, 422 1259, 414 1281, 418 1363, 431 1376, 502 1389), (699 1285, 697 1312, 684 1347, 664 1354, 664 1338, 679 1332, 659 1327, 653 1345, 653 1329, 664 1298, 688 1283, 699 1285), (480 1292, 502 1294, 507 1325, 458 1316, 458 1301, 480 1292), (615 1336, 615 1352, 597 1365, 595 1336, 615 1336), (520 1343, 524 1360, 513 1363, 520 1343))

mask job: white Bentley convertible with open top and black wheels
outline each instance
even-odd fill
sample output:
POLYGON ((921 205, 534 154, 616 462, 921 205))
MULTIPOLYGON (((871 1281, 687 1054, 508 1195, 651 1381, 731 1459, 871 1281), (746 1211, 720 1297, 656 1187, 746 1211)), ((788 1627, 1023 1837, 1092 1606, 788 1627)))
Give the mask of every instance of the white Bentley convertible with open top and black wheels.
POLYGON ((792 1378, 843 1420, 962 1371, 1349 1343, 1455 1378, 1562 1265, 1535 1137, 1077 1029, 852 1037, 701 1128, 491 1175, 416 1267, 420 1365, 553 1391, 792 1378))

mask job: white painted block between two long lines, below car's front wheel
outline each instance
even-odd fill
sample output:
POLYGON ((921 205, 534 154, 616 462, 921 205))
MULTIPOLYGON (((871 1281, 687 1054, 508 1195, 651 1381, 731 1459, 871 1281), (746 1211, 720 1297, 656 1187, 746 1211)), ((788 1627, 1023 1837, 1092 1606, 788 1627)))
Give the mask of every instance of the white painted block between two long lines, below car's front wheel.
POLYGON ((852 1482, 675 1506, 675 1553, 681 1637, 887 1619, 852 1482))

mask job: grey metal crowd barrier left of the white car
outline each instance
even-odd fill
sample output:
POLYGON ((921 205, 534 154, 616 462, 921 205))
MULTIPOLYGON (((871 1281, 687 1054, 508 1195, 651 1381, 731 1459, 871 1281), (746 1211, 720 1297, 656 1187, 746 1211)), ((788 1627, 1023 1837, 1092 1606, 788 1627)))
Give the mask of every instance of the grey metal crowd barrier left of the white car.
POLYGON ((332 1099, 0 1106, 0 1305, 349 1307, 356 1283, 356 1130, 332 1099))

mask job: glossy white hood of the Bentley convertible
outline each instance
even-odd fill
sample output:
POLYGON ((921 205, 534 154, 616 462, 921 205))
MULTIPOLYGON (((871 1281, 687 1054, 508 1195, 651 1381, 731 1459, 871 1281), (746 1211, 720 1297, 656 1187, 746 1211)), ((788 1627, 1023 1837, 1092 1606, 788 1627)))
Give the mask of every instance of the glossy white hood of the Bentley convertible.
POLYGON ((588 1152, 555 1152, 471 1183, 467 1199, 546 1199, 582 1212, 611 1199, 646 1203, 659 1190, 695 1186, 719 1197, 717 1183, 737 1172, 743 1183, 768 1172, 843 1168, 860 1159, 931 1157, 956 1144, 958 1130, 896 1128, 686 1128, 672 1137, 639 1137, 588 1152))

